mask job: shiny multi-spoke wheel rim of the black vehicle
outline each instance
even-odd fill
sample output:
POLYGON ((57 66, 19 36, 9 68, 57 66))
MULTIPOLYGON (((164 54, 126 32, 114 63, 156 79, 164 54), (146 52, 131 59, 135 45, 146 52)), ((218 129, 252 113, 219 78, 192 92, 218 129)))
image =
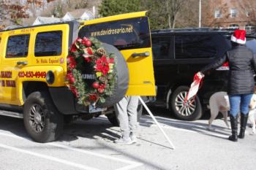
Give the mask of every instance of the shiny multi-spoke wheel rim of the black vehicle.
POLYGON ((190 116, 195 112, 196 101, 190 99, 184 104, 185 97, 187 96, 187 91, 181 91, 175 98, 175 108, 178 114, 182 116, 190 116))

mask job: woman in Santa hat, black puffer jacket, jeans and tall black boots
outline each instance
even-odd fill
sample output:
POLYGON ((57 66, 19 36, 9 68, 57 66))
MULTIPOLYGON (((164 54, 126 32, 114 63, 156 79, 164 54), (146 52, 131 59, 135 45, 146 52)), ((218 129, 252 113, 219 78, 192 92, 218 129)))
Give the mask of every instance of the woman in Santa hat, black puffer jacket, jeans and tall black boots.
POLYGON ((230 100, 230 123, 232 135, 229 140, 237 142, 244 139, 244 131, 249 113, 249 103, 254 93, 256 70, 256 56, 245 46, 246 31, 236 30, 231 36, 232 49, 225 55, 217 58, 213 63, 205 66, 197 75, 203 77, 210 69, 217 69, 228 62, 230 71, 227 84, 227 93, 230 100), (238 135, 238 113, 241 113, 241 129, 238 135))

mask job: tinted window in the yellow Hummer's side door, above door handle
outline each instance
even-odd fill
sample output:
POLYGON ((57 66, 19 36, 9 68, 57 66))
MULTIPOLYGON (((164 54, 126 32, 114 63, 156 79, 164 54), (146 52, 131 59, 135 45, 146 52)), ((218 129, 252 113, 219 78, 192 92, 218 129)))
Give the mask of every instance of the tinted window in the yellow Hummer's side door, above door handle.
POLYGON ((29 35, 10 36, 6 58, 26 57, 29 48, 29 35))

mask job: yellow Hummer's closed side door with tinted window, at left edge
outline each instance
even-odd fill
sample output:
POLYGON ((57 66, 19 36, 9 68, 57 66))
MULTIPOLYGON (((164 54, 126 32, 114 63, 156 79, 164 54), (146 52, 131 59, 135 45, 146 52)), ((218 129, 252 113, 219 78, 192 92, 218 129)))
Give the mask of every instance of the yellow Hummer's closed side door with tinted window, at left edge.
POLYGON ((18 90, 18 72, 29 66, 30 34, 21 29, 5 31, 1 37, 0 64, 0 102, 3 104, 20 105, 18 90))

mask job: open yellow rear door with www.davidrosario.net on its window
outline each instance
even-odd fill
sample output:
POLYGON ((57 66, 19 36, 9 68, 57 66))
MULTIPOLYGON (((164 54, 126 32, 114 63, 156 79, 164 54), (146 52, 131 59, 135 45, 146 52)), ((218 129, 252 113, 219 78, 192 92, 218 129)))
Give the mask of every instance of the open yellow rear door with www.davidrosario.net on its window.
POLYGON ((88 20, 79 36, 95 37, 120 50, 129 69, 128 96, 155 96, 151 34, 146 12, 88 20))

